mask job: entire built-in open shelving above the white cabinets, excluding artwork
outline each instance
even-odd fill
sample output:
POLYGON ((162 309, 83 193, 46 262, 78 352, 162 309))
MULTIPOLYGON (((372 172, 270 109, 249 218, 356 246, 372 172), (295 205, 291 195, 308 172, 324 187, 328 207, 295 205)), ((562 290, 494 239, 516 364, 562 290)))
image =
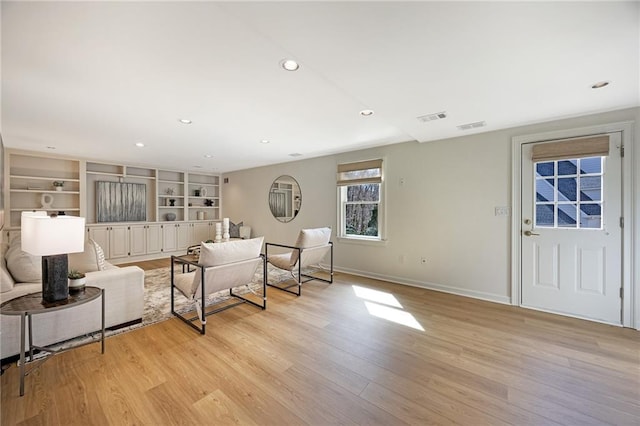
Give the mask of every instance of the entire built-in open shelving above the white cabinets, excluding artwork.
POLYGON ((104 181, 145 185, 142 224, 189 221, 201 225, 221 218, 219 175, 7 150, 4 178, 7 225, 15 228, 20 227, 23 211, 42 210, 42 201, 50 199, 53 202, 45 207, 50 213, 83 216, 87 226, 117 225, 98 222, 97 182, 104 181), (54 181, 64 182, 61 191, 54 181))

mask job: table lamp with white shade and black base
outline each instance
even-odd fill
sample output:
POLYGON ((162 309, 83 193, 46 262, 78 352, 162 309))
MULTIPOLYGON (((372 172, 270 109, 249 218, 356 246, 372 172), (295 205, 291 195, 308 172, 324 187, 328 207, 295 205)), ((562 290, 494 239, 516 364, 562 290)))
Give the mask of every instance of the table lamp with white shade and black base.
POLYGON ((84 251, 84 218, 23 212, 22 250, 42 256, 42 299, 57 302, 69 297, 67 253, 84 251))

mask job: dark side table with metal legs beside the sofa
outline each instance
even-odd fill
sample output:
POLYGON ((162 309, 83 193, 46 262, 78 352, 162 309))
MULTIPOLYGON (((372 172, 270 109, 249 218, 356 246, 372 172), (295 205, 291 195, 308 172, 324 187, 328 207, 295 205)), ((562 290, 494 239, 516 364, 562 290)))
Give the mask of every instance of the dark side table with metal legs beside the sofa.
MULTIPOLYGON (((26 333, 26 320, 29 327, 29 362, 33 361, 33 350, 48 352, 50 354, 57 354, 65 352, 69 349, 79 348, 80 346, 89 345, 91 343, 97 343, 98 341, 90 341, 85 343, 76 344, 67 348, 53 349, 51 346, 36 346, 33 344, 33 316, 38 314, 44 314, 47 312, 60 311, 63 309, 73 308, 79 306, 98 297, 102 300, 102 329, 100 334, 100 342, 102 344, 102 353, 104 354, 104 290, 98 287, 87 286, 84 290, 77 293, 70 293, 69 298, 65 300, 59 300, 57 302, 45 302, 42 300, 42 292, 26 294, 24 296, 17 297, 15 299, 8 300, 0 305, 0 314, 2 315, 20 315, 20 396, 24 395, 24 378, 36 367, 26 370, 26 353, 24 350, 25 333, 26 333)), ((46 361, 45 358, 42 361, 46 361)))

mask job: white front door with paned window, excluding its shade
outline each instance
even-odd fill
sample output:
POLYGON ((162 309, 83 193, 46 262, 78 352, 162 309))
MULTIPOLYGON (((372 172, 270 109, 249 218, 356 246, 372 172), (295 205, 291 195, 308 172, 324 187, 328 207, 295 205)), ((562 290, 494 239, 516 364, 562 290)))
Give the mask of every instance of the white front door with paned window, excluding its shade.
POLYGON ((609 155, 534 161, 522 149, 522 306, 621 324, 622 161, 609 155))

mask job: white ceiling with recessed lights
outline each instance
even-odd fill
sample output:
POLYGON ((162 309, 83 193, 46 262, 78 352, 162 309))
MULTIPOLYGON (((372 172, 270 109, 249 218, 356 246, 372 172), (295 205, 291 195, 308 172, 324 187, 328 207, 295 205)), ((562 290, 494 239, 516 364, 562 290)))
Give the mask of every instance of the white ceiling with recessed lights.
POLYGON ((636 107, 639 6, 3 1, 2 138, 222 173, 636 107))

